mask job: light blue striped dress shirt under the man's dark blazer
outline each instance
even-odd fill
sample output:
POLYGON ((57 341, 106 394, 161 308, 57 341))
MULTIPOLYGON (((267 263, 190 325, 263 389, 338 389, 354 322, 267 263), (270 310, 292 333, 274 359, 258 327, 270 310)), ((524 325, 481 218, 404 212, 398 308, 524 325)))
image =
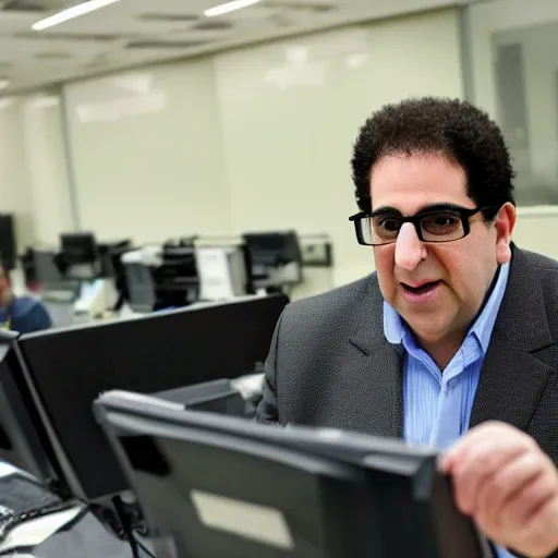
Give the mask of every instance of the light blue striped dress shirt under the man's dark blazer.
MULTIPOLYGON (((384 335, 405 351, 403 365, 403 437, 413 444, 447 449, 468 429, 481 367, 508 283, 509 264, 444 374, 416 343, 399 314, 384 302, 384 335)), ((499 558, 512 557, 498 548, 499 558)))

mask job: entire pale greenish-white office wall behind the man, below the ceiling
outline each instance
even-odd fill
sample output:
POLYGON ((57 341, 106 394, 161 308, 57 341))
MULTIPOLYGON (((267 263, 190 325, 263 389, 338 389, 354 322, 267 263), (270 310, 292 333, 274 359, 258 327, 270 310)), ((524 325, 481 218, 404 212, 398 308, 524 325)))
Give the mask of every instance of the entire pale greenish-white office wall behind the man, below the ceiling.
POLYGON ((514 240, 558 257, 558 4, 445 3, 8 90, 0 201, 20 251, 77 229, 146 243, 294 228, 335 251, 330 275, 294 296, 348 282, 374 265, 348 221, 357 128, 386 102, 440 95, 498 120, 519 173, 514 240))

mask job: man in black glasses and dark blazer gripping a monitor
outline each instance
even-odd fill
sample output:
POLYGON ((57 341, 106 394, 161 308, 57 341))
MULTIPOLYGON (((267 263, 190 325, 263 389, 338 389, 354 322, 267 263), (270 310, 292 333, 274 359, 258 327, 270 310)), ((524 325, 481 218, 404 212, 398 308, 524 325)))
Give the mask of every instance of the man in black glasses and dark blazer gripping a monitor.
POLYGON ((366 121, 352 171, 351 220, 376 272, 286 308, 258 421, 435 445, 459 507, 500 557, 548 556, 558 263, 511 243, 500 130, 466 102, 405 100, 366 121))

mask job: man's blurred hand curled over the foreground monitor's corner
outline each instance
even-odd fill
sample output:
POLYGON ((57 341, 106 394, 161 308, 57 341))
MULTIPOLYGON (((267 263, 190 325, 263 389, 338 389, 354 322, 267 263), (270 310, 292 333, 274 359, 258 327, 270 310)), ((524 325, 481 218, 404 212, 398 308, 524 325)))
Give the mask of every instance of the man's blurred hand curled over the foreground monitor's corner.
POLYGON ((459 509, 494 543, 529 557, 558 548, 558 471, 533 438, 508 424, 484 423, 440 465, 452 476, 459 509))

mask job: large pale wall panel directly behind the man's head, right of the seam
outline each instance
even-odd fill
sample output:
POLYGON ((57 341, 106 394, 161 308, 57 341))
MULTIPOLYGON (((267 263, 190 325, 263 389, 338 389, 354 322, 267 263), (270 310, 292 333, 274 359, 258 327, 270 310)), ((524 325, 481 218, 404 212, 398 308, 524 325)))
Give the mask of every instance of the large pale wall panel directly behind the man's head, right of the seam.
POLYGON ((217 56, 232 228, 326 231, 336 284, 369 271, 348 220, 352 143, 386 102, 462 95, 457 28, 444 11, 217 56))

